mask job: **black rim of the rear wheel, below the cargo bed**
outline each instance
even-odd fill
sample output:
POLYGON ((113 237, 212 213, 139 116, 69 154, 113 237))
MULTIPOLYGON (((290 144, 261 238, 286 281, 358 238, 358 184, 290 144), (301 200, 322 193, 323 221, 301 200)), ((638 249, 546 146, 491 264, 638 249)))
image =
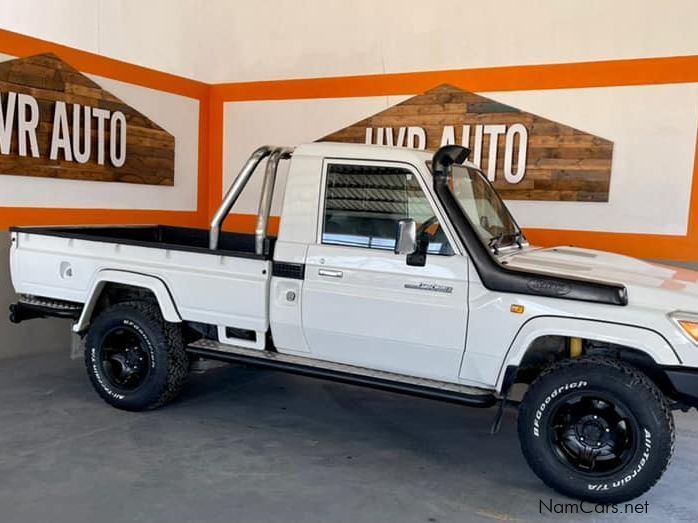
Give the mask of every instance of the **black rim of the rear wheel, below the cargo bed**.
POLYGON ((112 387, 137 390, 150 374, 146 341, 133 327, 114 327, 104 335, 99 351, 102 374, 112 387))

